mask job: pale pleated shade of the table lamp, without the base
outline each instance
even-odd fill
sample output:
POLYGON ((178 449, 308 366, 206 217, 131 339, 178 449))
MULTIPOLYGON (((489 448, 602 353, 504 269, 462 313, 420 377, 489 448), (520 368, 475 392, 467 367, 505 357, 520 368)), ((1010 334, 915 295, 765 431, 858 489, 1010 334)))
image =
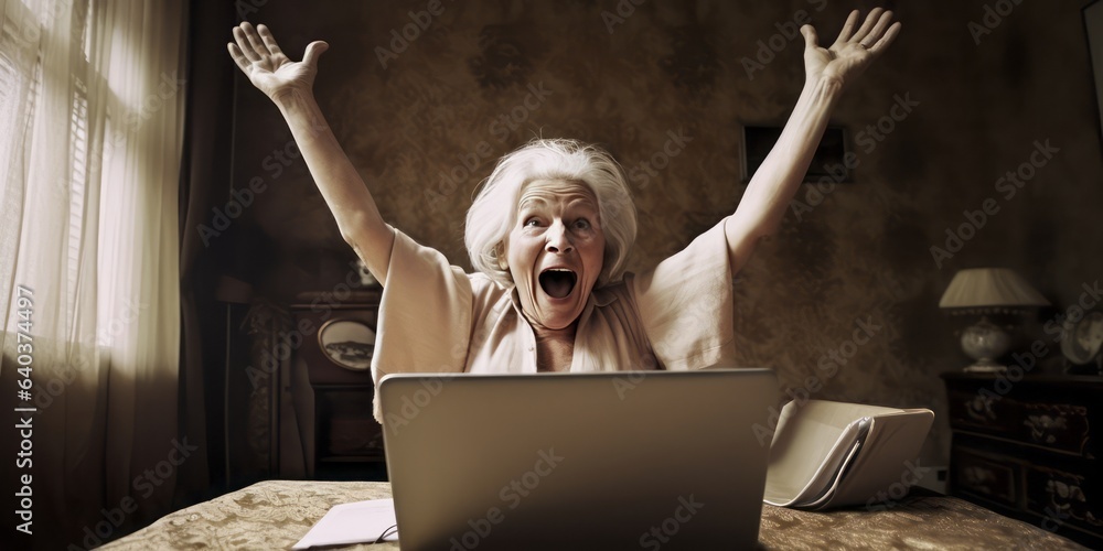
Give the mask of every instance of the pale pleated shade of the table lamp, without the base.
POLYGON ((1026 280, 1008 268, 961 270, 942 293, 939 307, 984 309, 1048 306, 1046 300, 1026 280))

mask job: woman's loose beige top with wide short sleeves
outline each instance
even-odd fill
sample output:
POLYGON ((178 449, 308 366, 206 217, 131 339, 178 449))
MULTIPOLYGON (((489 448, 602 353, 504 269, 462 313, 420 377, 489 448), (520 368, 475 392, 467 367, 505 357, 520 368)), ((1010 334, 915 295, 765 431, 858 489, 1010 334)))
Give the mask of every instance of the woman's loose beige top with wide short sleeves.
MULTIPOLYGON (((595 289, 570 371, 699 369, 735 357, 724 224, 639 276, 595 289)), ((536 372, 517 293, 395 230, 372 374, 536 372)), ((383 415, 378 398, 375 418, 383 415)))

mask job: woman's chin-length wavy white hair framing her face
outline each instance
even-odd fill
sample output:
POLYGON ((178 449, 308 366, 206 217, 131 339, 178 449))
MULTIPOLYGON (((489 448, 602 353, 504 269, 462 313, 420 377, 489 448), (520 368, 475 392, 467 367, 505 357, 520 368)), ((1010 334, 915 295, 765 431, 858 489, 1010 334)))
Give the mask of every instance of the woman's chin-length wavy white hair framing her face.
POLYGON ((483 181, 468 209, 463 242, 471 264, 495 281, 512 284, 505 239, 517 218, 521 192, 536 180, 565 180, 589 186, 598 199, 606 251, 597 287, 624 274, 635 242, 635 205, 620 164, 597 145, 566 139, 536 139, 506 154, 483 181))

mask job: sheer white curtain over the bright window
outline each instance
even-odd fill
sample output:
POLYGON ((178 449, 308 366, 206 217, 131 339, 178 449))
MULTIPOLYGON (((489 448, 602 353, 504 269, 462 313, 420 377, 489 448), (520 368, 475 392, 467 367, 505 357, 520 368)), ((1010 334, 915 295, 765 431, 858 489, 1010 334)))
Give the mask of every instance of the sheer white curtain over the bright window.
POLYGON ((186 7, 0 8, 0 406, 38 409, 35 540, 95 543, 163 512, 194 445, 176 434, 186 7))

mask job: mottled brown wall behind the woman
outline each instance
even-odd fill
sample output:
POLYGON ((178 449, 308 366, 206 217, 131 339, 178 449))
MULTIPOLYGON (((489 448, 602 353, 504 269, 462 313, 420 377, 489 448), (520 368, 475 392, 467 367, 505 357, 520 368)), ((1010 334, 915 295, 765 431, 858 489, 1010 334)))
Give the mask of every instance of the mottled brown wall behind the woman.
MULTIPOLYGON (((413 42, 395 42, 403 51, 382 63, 378 48, 427 3, 267 2, 248 17, 293 56, 310 40, 330 43, 315 90, 396 227, 468 266, 463 214, 494 160, 534 136, 572 137, 606 145, 633 176, 635 270, 738 204, 740 125, 782 122, 803 83, 801 40, 784 36, 797 12, 827 43, 852 7, 876 6, 646 1, 629 14, 627 0, 445 1, 443 13, 413 42), (618 6, 623 22, 603 15, 618 6), (772 61, 770 44, 783 46, 772 61), (769 63, 748 71, 745 58, 760 51, 769 63), (675 148, 672 136, 686 138, 675 148), (677 150, 668 163, 664 148, 677 150), (665 168, 649 173, 645 162, 665 168)), ((903 33, 833 119, 857 154, 854 181, 826 195, 802 188, 797 199, 810 209, 794 203, 739 276, 746 365, 773 367, 793 396, 933 408, 940 418, 924 458, 946 461, 938 375, 967 363, 955 322, 936 307, 954 271, 1016 268, 1058 309, 1103 274, 1093 242, 1103 205, 1099 111, 1082 3, 891 3, 903 33), (999 21, 996 8, 1007 13, 999 21), (1010 196, 998 179, 1029 162, 1036 143, 1057 151, 1010 196), (998 212, 961 229, 963 213, 987 198, 998 212), (946 247, 947 229, 968 239, 935 259, 931 247, 946 247)), ((353 256, 286 148, 289 132, 245 80, 236 106, 227 125, 236 185, 259 177, 266 188, 225 244, 237 259, 227 272, 276 301, 332 289, 353 256)), ((1038 326, 1031 337, 1048 338, 1038 326)))

